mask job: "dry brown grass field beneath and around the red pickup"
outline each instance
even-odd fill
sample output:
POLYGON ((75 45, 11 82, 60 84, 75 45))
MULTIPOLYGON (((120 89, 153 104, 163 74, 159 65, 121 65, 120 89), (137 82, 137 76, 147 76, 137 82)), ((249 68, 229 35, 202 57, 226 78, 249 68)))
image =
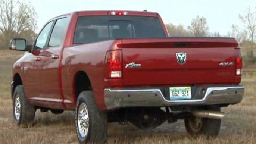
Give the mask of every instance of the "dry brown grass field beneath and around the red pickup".
MULTIPOLYGON (((37 111, 35 125, 26 129, 13 122, 9 84, 12 65, 21 55, 0 50, 0 144, 77 144, 73 112, 54 115, 37 111)), ((111 123, 108 144, 256 144, 256 73, 244 73, 242 84, 246 86, 244 100, 222 109, 227 115, 216 139, 190 137, 182 120, 152 131, 111 123)))

